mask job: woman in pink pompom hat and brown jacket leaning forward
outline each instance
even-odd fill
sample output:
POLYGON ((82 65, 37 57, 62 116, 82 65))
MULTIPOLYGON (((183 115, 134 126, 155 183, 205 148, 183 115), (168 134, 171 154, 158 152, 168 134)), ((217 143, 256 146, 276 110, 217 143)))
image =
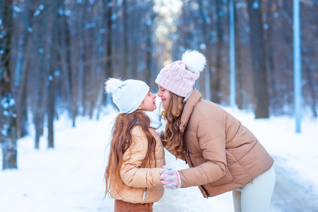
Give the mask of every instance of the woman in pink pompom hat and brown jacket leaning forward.
POLYGON ((203 54, 188 50, 155 80, 167 121, 164 146, 190 167, 164 166, 162 183, 167 189, 198 186, 204 197, 232 191, 235 211, 268 211, 274 160, 239 120, 193 88, 205 64, 203 54))

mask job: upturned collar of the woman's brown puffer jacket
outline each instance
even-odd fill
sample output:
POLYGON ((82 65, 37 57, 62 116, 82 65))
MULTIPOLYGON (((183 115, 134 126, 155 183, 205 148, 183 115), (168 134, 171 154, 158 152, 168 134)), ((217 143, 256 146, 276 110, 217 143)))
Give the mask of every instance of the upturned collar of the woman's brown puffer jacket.
POLYGON ((183 108, 181 123, 179 125, 179 130, 181 133, 184 132, 194 108, 201 99, 202 94, 196 88, 194 88, 189 98, 186 100, 183 108))

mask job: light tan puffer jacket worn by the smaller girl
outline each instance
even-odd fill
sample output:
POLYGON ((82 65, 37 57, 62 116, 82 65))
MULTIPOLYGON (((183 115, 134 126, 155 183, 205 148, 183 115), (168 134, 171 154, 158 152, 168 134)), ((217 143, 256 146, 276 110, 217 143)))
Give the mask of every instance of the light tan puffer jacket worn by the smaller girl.
POLYGON ((163 196, 164 188, 160 181, 159 171, 165 165, 165 152, 155 129, 150 128, 150 132, 156 139, 156 166, 153 161, 151 164, 153 168, 139 168, 146 156, 148 141, 140 127, 135 127, 132 130, 134 142, 131 148, 124 153, 124 163, 120 169, 120 176, 125 185, 119 194, 111 191, 112 198, 131 203, 150 203, 160 200, 163 196))

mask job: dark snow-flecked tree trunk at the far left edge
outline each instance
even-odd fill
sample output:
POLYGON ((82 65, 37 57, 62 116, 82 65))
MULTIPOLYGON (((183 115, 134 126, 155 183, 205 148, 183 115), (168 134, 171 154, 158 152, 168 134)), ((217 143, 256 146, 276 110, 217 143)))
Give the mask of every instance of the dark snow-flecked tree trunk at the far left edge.
POLYGON ((3 37, 0 37, 0 143, 3 169, 17 168, 16 105, 11 87, 11 39, 13 35, 12 0, 0 2, 3 37))

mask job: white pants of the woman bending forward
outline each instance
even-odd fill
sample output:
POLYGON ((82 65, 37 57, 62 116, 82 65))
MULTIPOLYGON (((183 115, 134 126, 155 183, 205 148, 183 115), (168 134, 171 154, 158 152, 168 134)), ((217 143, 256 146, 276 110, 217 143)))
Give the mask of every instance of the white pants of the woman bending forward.
POLYGON ((232 191, 235 212, 268 212, 275 186, 275 171, 271 167, 248 183, 232 191))

